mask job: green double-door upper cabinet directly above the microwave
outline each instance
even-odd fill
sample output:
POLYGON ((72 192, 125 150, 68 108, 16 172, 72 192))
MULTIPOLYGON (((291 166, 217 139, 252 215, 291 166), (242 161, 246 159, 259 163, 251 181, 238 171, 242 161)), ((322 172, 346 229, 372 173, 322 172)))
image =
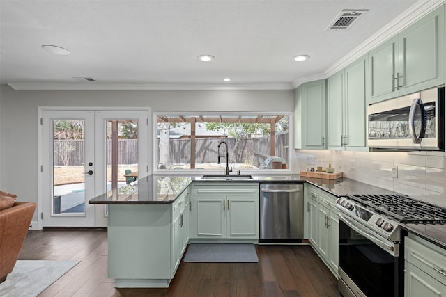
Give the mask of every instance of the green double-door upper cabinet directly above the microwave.
POLYGON ((368 103, 445 83, 445 6, 369 52, 368 103))

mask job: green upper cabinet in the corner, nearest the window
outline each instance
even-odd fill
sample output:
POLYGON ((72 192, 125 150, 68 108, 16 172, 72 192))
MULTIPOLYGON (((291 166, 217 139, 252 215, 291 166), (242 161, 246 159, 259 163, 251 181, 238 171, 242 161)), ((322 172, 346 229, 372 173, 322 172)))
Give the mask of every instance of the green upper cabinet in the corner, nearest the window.
POLYGON ((325 149, 325 83, 325 79, 322 79, 304 83, 295 89, 296 149, 325 149))

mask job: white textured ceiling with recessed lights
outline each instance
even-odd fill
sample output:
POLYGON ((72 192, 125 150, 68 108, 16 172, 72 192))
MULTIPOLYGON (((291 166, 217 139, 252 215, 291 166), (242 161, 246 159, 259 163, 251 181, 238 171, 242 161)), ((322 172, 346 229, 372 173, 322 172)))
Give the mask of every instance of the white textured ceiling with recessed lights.
POLYGON ((427 2, 0 0, 0 82, 292 88, 322 77, 408 8, 427 2), (347 31, 325 30, 342 9, 369 12, 347 31), (49 54, 42 45, 70 55, 49 54), (215 60, 197 61, 200 54, 215 60), (292 61, 298 54, 311 58, 292 61))

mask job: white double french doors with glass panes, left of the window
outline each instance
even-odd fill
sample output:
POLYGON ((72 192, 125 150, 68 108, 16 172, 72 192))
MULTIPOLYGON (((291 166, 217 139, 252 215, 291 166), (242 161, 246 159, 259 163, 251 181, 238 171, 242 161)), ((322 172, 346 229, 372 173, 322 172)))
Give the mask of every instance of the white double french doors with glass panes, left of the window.
POLYGON ((97 195, 148 174, 149 112, 40 109, 41 227, 107 226, 97 195))

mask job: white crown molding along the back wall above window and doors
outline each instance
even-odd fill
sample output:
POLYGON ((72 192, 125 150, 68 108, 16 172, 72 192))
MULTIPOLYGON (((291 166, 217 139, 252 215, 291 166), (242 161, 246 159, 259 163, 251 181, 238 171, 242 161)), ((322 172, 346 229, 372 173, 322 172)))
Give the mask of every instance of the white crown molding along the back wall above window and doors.
POLYGON ((291 83, 8 83, 14 90, 293 90, 291 83))

